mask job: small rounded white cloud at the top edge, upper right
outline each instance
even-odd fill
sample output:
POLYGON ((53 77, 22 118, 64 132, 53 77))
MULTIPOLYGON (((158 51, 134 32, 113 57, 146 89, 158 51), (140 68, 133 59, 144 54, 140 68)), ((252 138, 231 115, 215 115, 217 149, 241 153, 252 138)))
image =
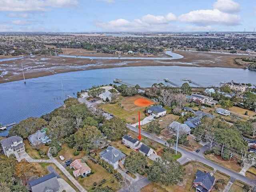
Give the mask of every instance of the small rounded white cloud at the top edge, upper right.
POLYGON ((232 0, 218 0, 213 4, 214 9, 226 13, 236 13, 240 11, 240 5, 232 0))

